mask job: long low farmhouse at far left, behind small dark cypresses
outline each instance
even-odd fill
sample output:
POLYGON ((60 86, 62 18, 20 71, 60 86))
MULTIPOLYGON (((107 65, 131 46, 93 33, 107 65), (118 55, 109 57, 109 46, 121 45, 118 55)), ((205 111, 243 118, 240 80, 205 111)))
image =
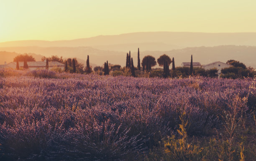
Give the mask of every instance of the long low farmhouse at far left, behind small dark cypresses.
MULTIPOLYGON (((46 61, 28 61, 28 69, 29 70, 36 70, 36 69, 45 69, 46 68, 46 61)), ((20 68, 23 68, 23 61, 19 61, 20 68)), ((11 68, 16 69, 16 62, 11 62, 8 64, 0 65, 0 68, 11 68)), ((59 63, 57 61, 49 61, 49 69, 52 68, 61 68, 61 70, 64 70, 65 65, 62 63, 59 63)))

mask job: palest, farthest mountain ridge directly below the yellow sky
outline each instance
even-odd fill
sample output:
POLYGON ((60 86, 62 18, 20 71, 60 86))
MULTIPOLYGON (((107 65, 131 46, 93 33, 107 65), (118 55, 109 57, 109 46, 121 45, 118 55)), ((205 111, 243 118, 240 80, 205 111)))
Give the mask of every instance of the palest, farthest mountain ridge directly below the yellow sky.
POLYGON ((126 51, 129 46, 145 50, 173 50, 185 47, 218 45, 256 45, 256 33, 189 33, 189 32, 144 32, 120 35, 100 35, 75 40, 23 40, 0 43, 0 47, 92 47, 102 50, 126 51), (120 47, 122 46, 122 48, 120 47), (164 48, 163 48, 164 46, 164 48), (121 50, 122 49, 122 50, 121 50))

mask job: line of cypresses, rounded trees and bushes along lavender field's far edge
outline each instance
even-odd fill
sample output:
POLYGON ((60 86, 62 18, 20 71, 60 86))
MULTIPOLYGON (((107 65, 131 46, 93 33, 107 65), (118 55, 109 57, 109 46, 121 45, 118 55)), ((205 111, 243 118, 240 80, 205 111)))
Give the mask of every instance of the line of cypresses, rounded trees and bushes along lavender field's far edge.
MULTIPOLYGON (((224 68, 221 70, 221 74, 218 75, 218 70, 216 68, 205 70, 204 68, 194 68, 193 67, 193 57, 191 55, 190 67, 175 67, 174 58, 170 58, 168 55, 161 55, 157 60, 151 56, 146 55, 142 61, 140 60, 140 51, 138 48, 138 63, 137 67, 134 66, 133 58, 131 57, 131 51, 126 54, 126 63, 125 67, 121 68, 121 65, 113 65, 108 63, 108 60, 101 66, 96 66, 93 70, 94 73, 99 75, 125 75, 133 77, 161 77, 161 78, 177 78, 177 77, 188 77, 192 75, 199 75, 204 77, 217 78, 244 78, 244 77, 253 77, 256 75, 251 67, 246 67, 243 63, 240 63, 237 60, 228 60, 226 63, 232 65, 229 68, 224 68), (160 67, 163 68, 154 68, 156 62, 160 67), (169 66, 172 64, 172 68, 169 66)), ((77 58, 67 58, 63 59, 53 55, 51 57, 43 57, 42 61, 46 60, 46 69, 49 69, 49 61, 57 61, 65 64, 64 71, 68 73, 92 73, 92 67, 89 62, 89 55, 87 55, 86 67, 82 63, 77 61, 77 58)), ((17 62, 16 69, 19 69, 18 61, 24 61, 23 68, 28 69, 27 61, 35 61, 31 55, 23 54, 18 55, 14 58, 14 61, 17 62)))

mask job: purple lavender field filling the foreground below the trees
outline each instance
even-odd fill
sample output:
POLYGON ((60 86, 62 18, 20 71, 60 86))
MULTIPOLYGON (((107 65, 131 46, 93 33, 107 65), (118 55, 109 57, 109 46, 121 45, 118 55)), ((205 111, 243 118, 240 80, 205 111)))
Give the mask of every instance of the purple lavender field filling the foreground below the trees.
POLYGON ((255 100, 251 78, 1 70, 0 160, 253 160, 255 100))

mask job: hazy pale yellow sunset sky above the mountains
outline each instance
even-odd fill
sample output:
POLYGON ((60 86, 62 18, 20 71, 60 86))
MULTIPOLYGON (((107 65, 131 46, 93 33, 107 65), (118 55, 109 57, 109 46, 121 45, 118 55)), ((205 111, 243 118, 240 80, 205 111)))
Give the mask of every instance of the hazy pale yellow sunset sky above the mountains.
POLYGON ((256 0, 0 0, 0 42, 146 31, 256 32, 256 0))

